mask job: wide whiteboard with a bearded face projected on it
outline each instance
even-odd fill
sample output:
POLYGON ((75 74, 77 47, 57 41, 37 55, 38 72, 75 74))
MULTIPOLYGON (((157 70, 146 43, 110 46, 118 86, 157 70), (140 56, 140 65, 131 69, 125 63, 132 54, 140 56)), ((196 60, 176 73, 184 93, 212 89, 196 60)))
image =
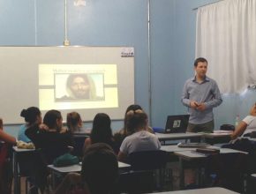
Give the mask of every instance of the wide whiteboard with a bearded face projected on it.
POLYGON ((83 121, 107 113, 124 118, 134 103, 134 49, 127 47, 0 47, 0 117, 24 123, 23 108, 38 107, 83 121))

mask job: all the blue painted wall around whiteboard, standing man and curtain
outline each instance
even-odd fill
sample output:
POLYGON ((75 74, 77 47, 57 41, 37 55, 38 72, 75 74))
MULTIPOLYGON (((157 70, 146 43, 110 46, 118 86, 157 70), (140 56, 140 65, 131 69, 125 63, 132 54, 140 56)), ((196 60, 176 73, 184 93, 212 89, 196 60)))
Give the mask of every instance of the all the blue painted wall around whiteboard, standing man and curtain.
MULTIPOLYGON (((168 115, 186 113, 180 96, 184 81, 193 75, 196 11, 192 9, 216 1, 87 0, 86 7, 74 7, 67 0, 68 39, 71 45, 134 47, 135 101, 149 113, 152 126, 164 127, 168 115)), ((0 0, 0 7, 1 46, 63 45, 64 0, 0 0)), ((255 96, 255 91, 223 95, 222 105, 215 108, 215 128, 234 123, 237 114, 244 117, 255 96)), ((113 130, 122 124, 113 122, 113 130)), ((14 135, 18 128, 6 126, 14 135)))

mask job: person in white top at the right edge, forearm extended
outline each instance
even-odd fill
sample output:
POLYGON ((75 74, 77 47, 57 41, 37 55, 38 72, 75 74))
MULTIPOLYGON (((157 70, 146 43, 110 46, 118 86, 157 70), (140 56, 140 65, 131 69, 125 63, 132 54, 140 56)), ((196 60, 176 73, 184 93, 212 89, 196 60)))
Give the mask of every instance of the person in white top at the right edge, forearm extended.
POLYGON ((236 130, 231 134, 231 139, 238 138, 241 135, 245 135, 246 133, 251 133, 252 131, 256 131, 256 103, 253 104, 249 116, 245 116, 243 121, 241 121, 236 130))

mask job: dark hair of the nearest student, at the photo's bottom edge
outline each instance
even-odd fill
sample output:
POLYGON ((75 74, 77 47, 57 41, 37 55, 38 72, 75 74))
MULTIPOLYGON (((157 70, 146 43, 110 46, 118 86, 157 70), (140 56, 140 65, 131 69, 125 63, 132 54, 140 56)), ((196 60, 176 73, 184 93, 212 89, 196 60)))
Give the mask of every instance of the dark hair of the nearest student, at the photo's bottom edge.
POLYGON ((81 177, 92 194, 108 194, 113 190, 118 178, 118 162, 109 145, 96 143, 87 147, 81 177))

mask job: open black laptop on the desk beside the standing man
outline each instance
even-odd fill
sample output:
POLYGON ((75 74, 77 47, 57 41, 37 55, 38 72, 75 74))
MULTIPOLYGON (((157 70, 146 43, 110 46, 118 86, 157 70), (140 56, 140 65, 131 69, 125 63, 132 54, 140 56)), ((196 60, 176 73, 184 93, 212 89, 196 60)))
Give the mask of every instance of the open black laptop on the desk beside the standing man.
POLYGON ((167 116, 165 133, 185 132, 188 125, 189 115, 167 116))

